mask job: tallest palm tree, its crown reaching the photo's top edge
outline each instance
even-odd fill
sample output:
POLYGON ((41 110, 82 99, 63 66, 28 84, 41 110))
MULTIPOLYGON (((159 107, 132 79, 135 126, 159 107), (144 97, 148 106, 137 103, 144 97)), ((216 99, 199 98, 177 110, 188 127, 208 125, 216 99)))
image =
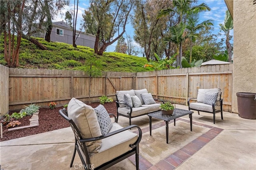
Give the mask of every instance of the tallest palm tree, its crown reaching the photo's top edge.
MULTIPOLYGON (((208 5, 206 5, 205 3, 202 3, 200 5, 197 6, 192 6, 192 3, 194 2, 194 0, 173 0, 173 5, 174 5, 174 9, 172 8, 167 8, 167 9, 163 9, 159 12, 158 14, 158 18, 162 17, 162 16, 167 16, 170 12, 175 12, 179 15, 179 21, 178 23, 184 22, 186 23, 186 17, 188 14, 190 14, 191 12, 195 12, 195 13, 200 13, 200 12, 204 12, 204 11, 210 11, 210 7, 208 5)), ((177 24, 178 24, 177 23, 177 24)), ((180 41, 180 53, 179 53, 179 63, 177 63, 177 66, 181 66, 181 57, 182 57, 182 43, 183 41, 180 41)))

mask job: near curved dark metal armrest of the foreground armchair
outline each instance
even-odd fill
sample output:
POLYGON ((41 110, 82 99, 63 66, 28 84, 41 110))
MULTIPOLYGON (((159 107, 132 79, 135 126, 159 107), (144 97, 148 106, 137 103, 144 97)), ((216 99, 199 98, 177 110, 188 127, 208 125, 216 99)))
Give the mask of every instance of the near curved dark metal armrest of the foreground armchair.
POLYGON ((100 140, 100 139, 104 139, 104 138, 110 137, 110 136, 112 136, 112 135, 116 135, 116 134, 121 133, 121 132, 123 132, 123 131, 127 131, 127 130, 129 130, 129 129, 134 128, 134 127, 136 127, 136 128, 138 129, 138 132, 139 132, 137 141, 136 141, 134 144, 130 145, 131 148, 134 148, 134 147, 136 147, 136 146, 138 145, 138 143, 140 143, 140 140, 141 140, 141 138, 142 138, 142 131, 141 131, 140 127, 138 127, 137 125, 130 125, 130 126, 127 126, 127 127, 122 128, 122 129, 118 129, 118 130, 116 130, 116 131, 114 131, 114 132, 110 132, 110 133, 108 133, 108 134, 106 134, 106 135, 104 135, 104 136, 93 137, 93 138, 87 138, 87 139, 80 139, 79 141, 80 141, 81 143, 92 142, 92 141, 98 141, 98 140, 100 140))

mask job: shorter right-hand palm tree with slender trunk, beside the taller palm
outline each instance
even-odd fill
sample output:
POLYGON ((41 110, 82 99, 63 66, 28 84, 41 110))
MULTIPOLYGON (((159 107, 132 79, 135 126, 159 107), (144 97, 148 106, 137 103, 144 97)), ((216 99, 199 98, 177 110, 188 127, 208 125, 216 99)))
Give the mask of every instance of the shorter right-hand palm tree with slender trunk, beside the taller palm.
POLYGON ((189 63, 192 61, 192 47, 193 42, 196 41, 196 38, 198 36, 198 31, 201 31, 202 29, 209 27, 210 25, 214 25, 212 22, 213 20, 205 20, 201 23, 198 23, 199 21, 199 14, 192 12, 190 15, 188 15, 187 18, 187 25, 186 29, 188 31, 188 34, 190 35, 190 56, 189 56, 189 63))

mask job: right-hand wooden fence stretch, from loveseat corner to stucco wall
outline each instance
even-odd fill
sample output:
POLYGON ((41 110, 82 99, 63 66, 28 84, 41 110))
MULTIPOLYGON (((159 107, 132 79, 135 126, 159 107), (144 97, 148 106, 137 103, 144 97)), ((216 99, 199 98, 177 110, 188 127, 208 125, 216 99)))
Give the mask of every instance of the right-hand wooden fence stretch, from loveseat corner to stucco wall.
POLYGON ((188 98, 196 98, 199 88, 221 88, 224 111, 232 112, 233 64, 212 65, 136 75, 136 89, 147 88, 157 98, 187 105, 188 98))

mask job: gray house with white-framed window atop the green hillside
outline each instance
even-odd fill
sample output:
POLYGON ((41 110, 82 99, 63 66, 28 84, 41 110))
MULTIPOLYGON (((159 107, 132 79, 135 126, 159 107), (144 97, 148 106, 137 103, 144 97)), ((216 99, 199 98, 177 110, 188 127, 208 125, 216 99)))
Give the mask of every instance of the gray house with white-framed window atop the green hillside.
MULTIPOLYGON (((94 48, 95 36, 86 32, 76 30, 76 45, 94 48)), ((73 30, 64 21, 52 22, 51 41, 73 44, 73 30)), ((37 33, 35 37, 44 38, 45 32, 37 33)))

